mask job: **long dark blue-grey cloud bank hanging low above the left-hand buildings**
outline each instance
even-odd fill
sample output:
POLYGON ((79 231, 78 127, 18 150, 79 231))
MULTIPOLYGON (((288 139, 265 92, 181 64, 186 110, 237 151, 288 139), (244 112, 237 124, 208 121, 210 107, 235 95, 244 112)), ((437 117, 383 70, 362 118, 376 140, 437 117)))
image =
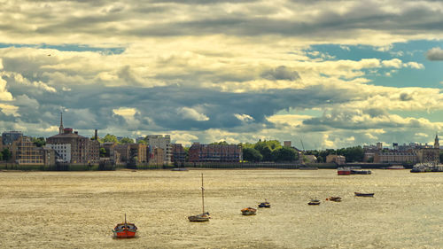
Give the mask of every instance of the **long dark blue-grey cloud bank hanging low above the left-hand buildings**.
MULTIPOLYGON (((64 119, 66 126, 79 129, 122 127, 128 123, 113 113, 121 106, 136 108, 135 119, 140 121, 135 128, 128 130, 148 130, 152 123, 144 118, 149 117, 159 130, 206 130, 222 128, 232 131, 260 130, 262 125, 272 128, 266 117, 282 109, 310 108, 325 105, 330 96, 319 94, 319 89, 303 90, 284 89, 266 93, 229 93, 212 89, 181 87, 129 88, 105 86, 74 86, 69 92, 43 92, 33 94, 33 90, 24 90, 14 86, 11 79, 9 89, 13 96, 20 96, 15 101, 19 105, 20 119, 28 123, 44 122, 58 125, 60 106, 67 109, 64 119), (38 103, 38 105, 35 105, 38 103), (183 116, 181 108, 198 106, 209 120, 194 121, 183 116), (43 117, 41 113, 51 113, 43 117), (235 114, 247 114, 253 117, 249 125, 238 120, 235 114)), ((351 93, 349 93, 351 94, 351 93)), ((341 98, 331 102, 345 101, 341 98)), ((14 104, 14 102, 12 102, 14 104)))

